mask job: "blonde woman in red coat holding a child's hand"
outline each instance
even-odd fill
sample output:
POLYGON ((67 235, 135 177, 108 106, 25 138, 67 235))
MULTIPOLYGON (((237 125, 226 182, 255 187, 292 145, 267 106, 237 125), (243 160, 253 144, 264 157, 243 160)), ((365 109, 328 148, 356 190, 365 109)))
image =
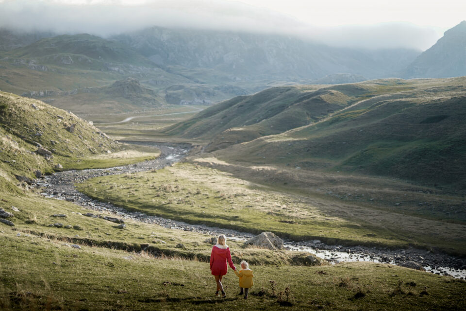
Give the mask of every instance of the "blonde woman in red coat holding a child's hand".
POLYGON ((230 248, 226 242, 227 238, 224 234, 221 234, 217 238, 216 245, 212 247, 212 253, 210 254, 210 271, 212 271, 212 275, 215 276, 215 281, 217 283, 215 295, 218 296, 218 291, 221 290, 223 298, 226 297, 226 294, 223 291, 222 277, 227 274, 227 261, 230 267, 236 270, 236 267, 233 265, 232 255, 230 254, 230 248))

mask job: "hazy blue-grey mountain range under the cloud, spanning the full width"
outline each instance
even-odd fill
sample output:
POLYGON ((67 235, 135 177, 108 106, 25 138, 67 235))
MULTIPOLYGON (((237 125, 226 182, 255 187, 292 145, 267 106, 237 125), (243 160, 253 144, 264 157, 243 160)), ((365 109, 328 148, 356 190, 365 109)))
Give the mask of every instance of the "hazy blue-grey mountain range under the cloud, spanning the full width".
POLYGON ((465 38, 466 22, 422 53, 335 48, 289 35, 161 27, 109 38, 3 29, 0 89, 88 115, 209 105, 273 86, 464 75, 465 38), (139 100, 105 91, 128 78, 142 87, 129 88, 130 97, 139 100))

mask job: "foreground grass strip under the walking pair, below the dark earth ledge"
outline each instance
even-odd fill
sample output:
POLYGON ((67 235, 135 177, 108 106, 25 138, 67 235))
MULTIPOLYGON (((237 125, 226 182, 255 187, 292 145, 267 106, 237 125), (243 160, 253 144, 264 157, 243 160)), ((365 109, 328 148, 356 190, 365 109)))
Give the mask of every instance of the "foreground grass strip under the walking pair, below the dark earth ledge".
POLYGON ((77 250, 54 239, 16 237, 11 230, 0 233, 0 242, 2 310, 461 310, 466 302, 464 281, 363 262, 251 265, 248 300, 235 295, 238 278, 231 271, 223 279, 227 298, 221 299, 213 295, 206 262, 85 245, 77 250))

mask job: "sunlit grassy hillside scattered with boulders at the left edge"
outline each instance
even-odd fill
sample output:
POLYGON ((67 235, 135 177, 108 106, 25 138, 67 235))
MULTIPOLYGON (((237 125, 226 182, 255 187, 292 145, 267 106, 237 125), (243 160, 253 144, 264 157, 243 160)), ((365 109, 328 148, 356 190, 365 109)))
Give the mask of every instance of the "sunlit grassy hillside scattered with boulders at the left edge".
POLYGON ((119 148, 72 113, 5 92, 0 92, 0 139, 1 184, 10 186, 15 175, 34 178, 35 171, 51 172, 63 159, 119 148))

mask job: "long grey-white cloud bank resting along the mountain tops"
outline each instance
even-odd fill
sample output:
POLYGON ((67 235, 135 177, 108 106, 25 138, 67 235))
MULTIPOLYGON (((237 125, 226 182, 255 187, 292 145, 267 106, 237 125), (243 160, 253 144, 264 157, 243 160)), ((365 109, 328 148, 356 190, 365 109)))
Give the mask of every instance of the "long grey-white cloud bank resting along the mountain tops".
POLYGON ((265 8, 227 0, 0 0, 0 27, 110 36, 151 26, 296 35, 366 49, 425 50, 441 36, 408 23, 316 28, 265 8))

